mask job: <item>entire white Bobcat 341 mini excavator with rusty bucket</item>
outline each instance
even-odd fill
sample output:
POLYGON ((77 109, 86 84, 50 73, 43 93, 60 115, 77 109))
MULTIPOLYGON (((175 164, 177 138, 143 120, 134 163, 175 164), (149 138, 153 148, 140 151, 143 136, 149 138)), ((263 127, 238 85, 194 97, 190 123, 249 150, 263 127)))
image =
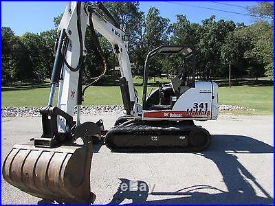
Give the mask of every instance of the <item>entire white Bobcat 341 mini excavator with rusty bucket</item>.
POLYGON ((104 137, 112 151, 198 151, 210 145, 208 131, 195 126, 193 120, 217 119, 218 87, 214 82, 195 81, 195 49, 190 45, 162 45, 149 52, 144 65, 142 104, 139 104, 133 87, 128 41, 129 36, 102 3, 67 2, 58 27, 50 98, 40 111, 43 134, 12 147, 3 162, 5 181, 47 201, 90 204, 95 199, 90 188, 93 139, 104 137), (120 89, 126 115, 107 133, 102 121, 80 122, 80 105, 89 86, 83 89, 87 25, 104 64, 103 73, 93 78, 91 84, 106 71, 95 31, 111 43, 120 64, 120 89), (182 56, 184 67, 170 84, 159 84, 147 97, 150 60, 165 54, 182 56), (192 62, 189 70, 185 66, 188 59, 192 62), (53 106, 56 86, 59 86, 58 102, 53 106), (76 143, 77 139, 82 139, 83 144, 76 143))

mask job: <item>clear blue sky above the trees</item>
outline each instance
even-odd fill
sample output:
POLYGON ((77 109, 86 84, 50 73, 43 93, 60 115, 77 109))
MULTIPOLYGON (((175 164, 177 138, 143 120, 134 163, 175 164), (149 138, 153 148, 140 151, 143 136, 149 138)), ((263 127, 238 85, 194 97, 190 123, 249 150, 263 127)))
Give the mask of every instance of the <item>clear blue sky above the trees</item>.
MULTIPOLYGON (((252 16, 194 8, 188 5, 228 10, 230 12, 248 13, 245 8, 238 7, 238 5, 251 7, 256 4, 255 1, 223 2, 232 5, 215 3, 216 1, 169 2, 140 1, 140 10, 148 12, 148 8, 150 7, 158 8, 160 15, 168 17, 171 22, 176 21, 176 14, 186 14, 190 22, 195 23, 201 23, 201 20, 214 14, 217 16, 217 20, 232 20, 235 23, 244 22, 247 25, 254 23, 254 17, 252 16), (185 5, 182 5, 182 3, 185 5)), ((17 35, 24 34, 25 32, 39 33, 43 30, 49 30, 54 27, 54 16, 58 16, 63 12, 65 4, 65 1, 1 1, 1 25, 11 27, 17 35)))

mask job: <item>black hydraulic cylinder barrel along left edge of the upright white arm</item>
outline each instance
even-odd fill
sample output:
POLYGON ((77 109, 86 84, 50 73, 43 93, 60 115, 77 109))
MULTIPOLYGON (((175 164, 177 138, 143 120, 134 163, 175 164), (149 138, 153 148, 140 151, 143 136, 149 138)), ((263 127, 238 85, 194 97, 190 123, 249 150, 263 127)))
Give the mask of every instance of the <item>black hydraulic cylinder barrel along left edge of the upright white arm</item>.
POLYGON ((54 67, 52 69, 52 77, 51 84, 58 84, 59 77, 61 75, 62 65, 63 65, 63 57, 62 57, 62 45, 66 36, 65 29, 61 30, 61 34, 59 35, 58 45, 56 49, 56 57, 54 59, 54 67))

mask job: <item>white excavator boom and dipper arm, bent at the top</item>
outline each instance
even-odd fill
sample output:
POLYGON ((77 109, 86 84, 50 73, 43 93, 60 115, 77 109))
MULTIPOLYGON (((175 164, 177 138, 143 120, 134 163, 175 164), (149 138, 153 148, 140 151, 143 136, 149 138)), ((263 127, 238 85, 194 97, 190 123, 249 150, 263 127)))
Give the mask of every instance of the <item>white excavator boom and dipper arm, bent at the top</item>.
MULTIPOLYGON (((102 4, 100 7, 102 8, 102 4)), ((94 25, 94 29, 102 34, 113 47, 113 52, 118 56, 120 73, 126 78, 129 98, 132 105, 137 105, 137 97, 133 87, 131 65, 128 54, 129 36, 113 23, 106 11, 94 8, 86 3, 77 1, 67 2, 65 12, 58 27, 58 47, 56 50, 56 60, 52 74, 52 89, 49 98, 49 106, 52 105, 56 85, 59 84, 58 108, 69 115, 74 115, 74 106, 79 99, 80 84, 82 81, 81 64, 83 56, 86 54, 84 45, 85 32, 89 25, 89 15, 94 25), (58 56, 61 58, 58 58, 58 56), (62 62, 63 61, 63 62, 62 62)), ((82 89, 82 88, 81 88, 82 89)), ((77 124, 80 123, 80 102, 77 102, 77 124)), ((135 110, 135 106, 132 111, 135 110)), ((68 130, 66 120, 58 117, 58 131, 68 130)))

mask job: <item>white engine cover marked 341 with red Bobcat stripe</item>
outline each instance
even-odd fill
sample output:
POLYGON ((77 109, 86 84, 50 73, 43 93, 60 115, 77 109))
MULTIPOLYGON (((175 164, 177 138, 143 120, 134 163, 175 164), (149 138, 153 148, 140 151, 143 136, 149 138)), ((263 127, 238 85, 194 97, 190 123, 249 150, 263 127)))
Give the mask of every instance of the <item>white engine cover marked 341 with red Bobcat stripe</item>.
POLYGON ((195 82, 179 96, 172 109, 144 110, 142 119, 155 120, 214 120, 219 115, 218 85, 215 82, 195 82))

